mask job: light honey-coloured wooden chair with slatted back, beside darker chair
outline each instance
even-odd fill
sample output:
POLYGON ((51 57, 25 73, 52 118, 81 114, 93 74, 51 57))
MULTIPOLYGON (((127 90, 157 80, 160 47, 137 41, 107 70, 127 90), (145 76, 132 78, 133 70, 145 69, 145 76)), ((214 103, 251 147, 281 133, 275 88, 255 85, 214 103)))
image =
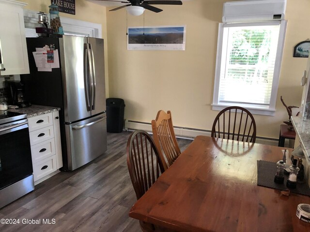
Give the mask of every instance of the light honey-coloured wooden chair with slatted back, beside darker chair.
POLYGON ((174 134, 170 111, 167 111, 167 113, 163 110, 158 111, 156 119, 152 120, 152 131, 160 159, 163 162, 164 169, 167 170, 168 166, 171 166, 181 153, 174 134))

